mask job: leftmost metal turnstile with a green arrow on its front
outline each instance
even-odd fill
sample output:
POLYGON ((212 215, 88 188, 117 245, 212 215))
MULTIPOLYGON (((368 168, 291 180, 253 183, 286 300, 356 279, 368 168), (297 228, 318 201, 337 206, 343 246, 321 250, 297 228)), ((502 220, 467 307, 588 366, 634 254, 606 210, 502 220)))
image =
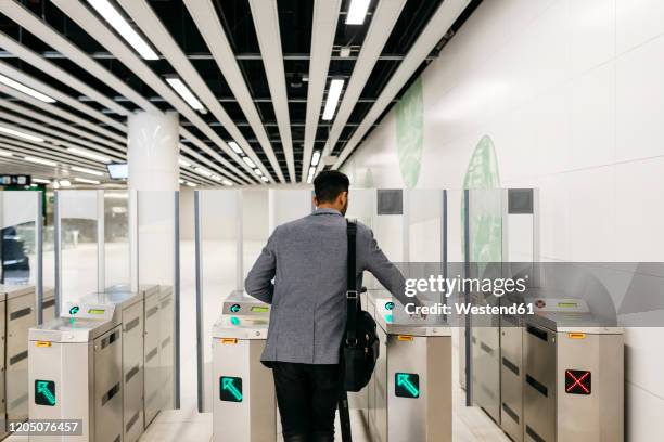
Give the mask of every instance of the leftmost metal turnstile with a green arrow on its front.
POLYGON ((71 303, 29 330, 29 415, 79 420, 79 435, 43 442, 117 442, 123 438, 122 325, 112 304, 71 303))

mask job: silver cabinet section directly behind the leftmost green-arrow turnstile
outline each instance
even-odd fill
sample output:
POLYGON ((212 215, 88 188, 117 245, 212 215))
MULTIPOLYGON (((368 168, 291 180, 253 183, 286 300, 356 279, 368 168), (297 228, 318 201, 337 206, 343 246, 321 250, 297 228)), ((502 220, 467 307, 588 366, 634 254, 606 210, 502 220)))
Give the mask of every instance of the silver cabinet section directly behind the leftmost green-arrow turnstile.
POLYGON ((143 432, 143 292, 111 287, 80 300, 117 311, 123 330, 123 441, 135 442, 143 432))

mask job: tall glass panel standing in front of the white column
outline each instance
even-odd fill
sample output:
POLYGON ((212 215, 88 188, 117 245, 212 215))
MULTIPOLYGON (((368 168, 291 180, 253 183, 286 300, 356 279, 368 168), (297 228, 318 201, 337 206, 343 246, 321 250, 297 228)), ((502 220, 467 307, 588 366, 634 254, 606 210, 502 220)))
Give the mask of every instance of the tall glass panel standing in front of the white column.
POLYGON ((175 361, 181 348, 177 326, 178 204, 178 192, 137 194, 138 288, 145 290, 145 413, 170 408, 175 399, 175 361))

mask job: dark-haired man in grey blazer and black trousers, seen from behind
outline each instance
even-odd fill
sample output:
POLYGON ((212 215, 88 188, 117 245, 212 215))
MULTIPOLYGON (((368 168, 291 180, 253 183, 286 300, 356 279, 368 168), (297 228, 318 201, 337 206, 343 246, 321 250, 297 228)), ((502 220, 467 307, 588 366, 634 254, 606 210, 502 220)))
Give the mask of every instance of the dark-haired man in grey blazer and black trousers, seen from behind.
MULTIPOLYGON (((246 292, 272 304, 261 361, 272 367, 285 442, 334 440, 340 349, 346 326, 348 178, 323 171, 314 181, 317 210, 278 226, 246 281, 246 292)), ((357 287, 371 272, 403 304, 399 270, 371 229, 357 224, 357 287)))

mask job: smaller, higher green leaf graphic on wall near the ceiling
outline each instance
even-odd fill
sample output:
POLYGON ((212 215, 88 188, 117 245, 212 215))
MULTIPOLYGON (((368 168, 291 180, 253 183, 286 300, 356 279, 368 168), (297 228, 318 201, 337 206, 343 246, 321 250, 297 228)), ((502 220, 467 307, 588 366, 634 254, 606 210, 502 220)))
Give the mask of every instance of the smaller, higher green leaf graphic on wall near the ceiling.
POLYGON ((399 169, 401 179, 409 188, 414 187, 420 178, 424 139, 423 114, 422 80, 418 78, 396 105, 399 169))

